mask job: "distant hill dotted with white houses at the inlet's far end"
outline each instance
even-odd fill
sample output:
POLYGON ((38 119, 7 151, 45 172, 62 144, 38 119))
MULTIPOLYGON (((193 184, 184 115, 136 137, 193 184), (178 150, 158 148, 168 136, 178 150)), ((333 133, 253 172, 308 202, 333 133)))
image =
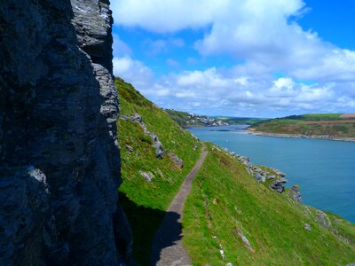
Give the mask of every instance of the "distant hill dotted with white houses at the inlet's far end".
POLYGON ((206 116, 172 109, 166 109, 165 111, 173 121, 177 122, 183 128, 217 127, 236 124, 251 125, 258 121, 264 121, 263 119, 249 117, 206 116))

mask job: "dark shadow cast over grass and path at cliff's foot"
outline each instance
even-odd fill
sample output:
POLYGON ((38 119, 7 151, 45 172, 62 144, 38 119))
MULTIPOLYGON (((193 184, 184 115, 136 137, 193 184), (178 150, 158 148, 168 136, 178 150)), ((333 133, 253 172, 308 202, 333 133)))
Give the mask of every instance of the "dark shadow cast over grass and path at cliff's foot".
POLYGON ((133 234, 133 257, 137 265, 155 265, 160 259, 162 248, 173 246, 177 240, 181 239, 180 215, 138 206, 122 192, 119 192, 119 203, 130 222, 133 234), (157 232, 163 221, 168 224, 165 219, 168 219, 170 226, 163 227, 157 232), (158 239, 153 246, 155 234, 158 239))

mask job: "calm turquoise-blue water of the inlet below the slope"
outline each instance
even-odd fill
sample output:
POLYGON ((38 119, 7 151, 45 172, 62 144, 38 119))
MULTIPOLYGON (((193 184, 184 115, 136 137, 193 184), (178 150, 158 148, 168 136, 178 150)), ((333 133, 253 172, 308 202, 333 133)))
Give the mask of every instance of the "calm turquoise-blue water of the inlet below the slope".
POLYGON ((245 126, 189 129, 201 140, 279 168, 299 184, 305 204, 355 223, 355 143, 248 135, 245 126), (217 131, 217 130, 231 131, 217 131), (212 131, 213 130, 213 131, 212 131))

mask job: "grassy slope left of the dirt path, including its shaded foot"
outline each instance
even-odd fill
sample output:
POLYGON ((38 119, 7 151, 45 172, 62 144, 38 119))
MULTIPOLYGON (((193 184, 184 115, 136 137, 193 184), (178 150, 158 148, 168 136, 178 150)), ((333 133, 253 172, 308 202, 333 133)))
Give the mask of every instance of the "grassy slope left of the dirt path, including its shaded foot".
POLYGON ((144 134, 138 122, 117 121, 123 179, 120 202, 132 227, 135 259, 138 265, 147 265, 154 233, 185 175, 198 160, 201 144, 130 84, 121 79, 116 79, 115 83, 120 97, 120 115, 141 115, 146 128, 160 138, 163 148, 184 163, 183 168, 178 169, 168 156, 156 158, 152 139, 144 134), (139 171, 153 174, 152 182, 147 182, 139 171))

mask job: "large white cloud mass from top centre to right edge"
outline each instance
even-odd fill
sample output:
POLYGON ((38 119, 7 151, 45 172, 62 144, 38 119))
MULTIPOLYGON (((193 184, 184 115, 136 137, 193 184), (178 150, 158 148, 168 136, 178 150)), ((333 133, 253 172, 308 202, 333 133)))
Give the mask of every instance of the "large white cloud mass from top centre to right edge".
POLYGON ((355 80, 354 51, 324 42, 292 20, 306 11, 303 0, 117 0, 112 8, 123 26, 156 33, 205 28, 196 42, 204 56, 226 53, 297 79, 355 80))

